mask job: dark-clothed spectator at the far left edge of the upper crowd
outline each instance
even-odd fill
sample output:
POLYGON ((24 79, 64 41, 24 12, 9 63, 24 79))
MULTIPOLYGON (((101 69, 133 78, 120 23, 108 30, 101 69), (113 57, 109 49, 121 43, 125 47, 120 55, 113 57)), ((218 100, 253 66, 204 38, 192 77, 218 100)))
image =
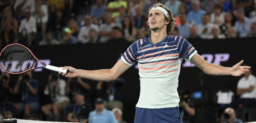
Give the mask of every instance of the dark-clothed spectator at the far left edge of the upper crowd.
POLYGON ((9 6, 5 7, 3 10, 3 18, 1 20, 1 27, 4 27, 3 25, 7 22, 11 24, 11 29, 13 31, 16 31, 16 32, 18 31, 18 27, 19 27, 18 21, 16 18, 14 18, 12 16, 12 9, 9 6))

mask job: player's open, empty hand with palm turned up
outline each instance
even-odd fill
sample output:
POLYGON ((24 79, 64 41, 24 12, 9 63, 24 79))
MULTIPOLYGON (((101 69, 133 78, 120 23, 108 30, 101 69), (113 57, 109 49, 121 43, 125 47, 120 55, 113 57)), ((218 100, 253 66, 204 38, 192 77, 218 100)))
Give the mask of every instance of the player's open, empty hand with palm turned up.
POLYGON ((232 68, 231 68, 231 75, 232 76, 242 76, 243 74, 245 74, 245 72, 249 71, 249 69, 251 68, 251 66, 241 66, 241 64, 244 62, 244 60, 240 61, 239 63, 235 64, 232 68))

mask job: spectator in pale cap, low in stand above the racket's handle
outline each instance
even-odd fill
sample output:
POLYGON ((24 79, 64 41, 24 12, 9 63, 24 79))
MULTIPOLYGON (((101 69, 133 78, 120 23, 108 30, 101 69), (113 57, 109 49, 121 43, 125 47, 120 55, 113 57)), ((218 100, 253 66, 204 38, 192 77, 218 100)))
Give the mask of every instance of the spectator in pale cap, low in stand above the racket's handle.
POLYGON ((76 38, 72 35, 70 28, 64 28, 64 36, 61 40, 61 44, 76 44, 76 38))

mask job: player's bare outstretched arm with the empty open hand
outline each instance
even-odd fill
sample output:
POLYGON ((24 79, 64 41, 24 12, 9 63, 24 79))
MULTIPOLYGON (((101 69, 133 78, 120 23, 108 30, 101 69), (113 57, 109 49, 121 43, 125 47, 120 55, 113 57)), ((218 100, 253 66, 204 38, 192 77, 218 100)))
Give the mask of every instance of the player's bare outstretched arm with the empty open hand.
POLYGON ((251 68, 250 66, 241 66, 244 60, 238 62, 232 67, 223 67, 217 64, 208 63, 197 53, 191 58, 190 62, 203 70, 205 74, 209 75, 241 76, 251 68))

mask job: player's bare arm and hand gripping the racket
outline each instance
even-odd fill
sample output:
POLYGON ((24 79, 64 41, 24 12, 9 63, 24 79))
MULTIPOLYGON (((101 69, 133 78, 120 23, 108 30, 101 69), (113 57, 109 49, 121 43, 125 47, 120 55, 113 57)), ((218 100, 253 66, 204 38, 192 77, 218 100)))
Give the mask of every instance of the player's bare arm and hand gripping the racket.
POLYGON ((122 60, 119 60, 111 69, 101 69, 101 70, 83 70, 76 69, 71 66, 62 67, 63 69, 69 69, 69 73, 61 73, 65 77, 82 77, 95 81, 114 81, 119 77, 124 71, 126 71, 130 66, 125 64, 122 60))

